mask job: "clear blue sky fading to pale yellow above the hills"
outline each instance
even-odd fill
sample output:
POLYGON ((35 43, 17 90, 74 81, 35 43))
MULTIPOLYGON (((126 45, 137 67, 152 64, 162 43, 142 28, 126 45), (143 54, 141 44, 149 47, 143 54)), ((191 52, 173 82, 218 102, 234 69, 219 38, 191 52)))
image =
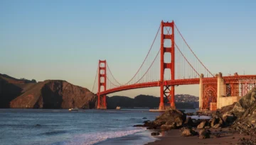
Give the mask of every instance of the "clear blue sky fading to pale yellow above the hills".
MULTIPOLYGON (((174 20, 213 74, 256 74, 255 7, 253 0, 1 0, 0 73, 92 89, 98 60, 107 59, 116 79, 127 82, 160 22, 174 20)), ((198 95, 198 85, 178 86, 176 93, 198 95)), ((159 88, 110 96, 139 94, 159 96, 159 88)))

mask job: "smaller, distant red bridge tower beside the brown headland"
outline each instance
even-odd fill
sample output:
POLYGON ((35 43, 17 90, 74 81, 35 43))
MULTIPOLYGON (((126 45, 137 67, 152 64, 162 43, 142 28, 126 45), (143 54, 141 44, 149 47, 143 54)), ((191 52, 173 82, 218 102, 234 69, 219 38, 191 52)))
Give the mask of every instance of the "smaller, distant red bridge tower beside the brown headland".
POLYGON ((107 61, 99 60, 99 71, 98 71, 98 91, 97 91, 97 109, 107 109, 106 95, 100 95, 101 86, 103 91, 107 89, 107 61))

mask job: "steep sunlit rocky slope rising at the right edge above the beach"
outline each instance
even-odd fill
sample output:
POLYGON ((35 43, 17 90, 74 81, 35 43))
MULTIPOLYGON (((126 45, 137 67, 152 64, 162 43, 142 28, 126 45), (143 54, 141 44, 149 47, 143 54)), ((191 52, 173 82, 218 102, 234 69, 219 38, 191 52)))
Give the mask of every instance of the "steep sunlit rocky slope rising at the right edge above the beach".
POLYGON ((231 125, 238 132, 251 135, 251 139, 244 140, 245 144, 256 144, 256 88, 252 88, 237 103, 219 111, 226 126, 231 125))

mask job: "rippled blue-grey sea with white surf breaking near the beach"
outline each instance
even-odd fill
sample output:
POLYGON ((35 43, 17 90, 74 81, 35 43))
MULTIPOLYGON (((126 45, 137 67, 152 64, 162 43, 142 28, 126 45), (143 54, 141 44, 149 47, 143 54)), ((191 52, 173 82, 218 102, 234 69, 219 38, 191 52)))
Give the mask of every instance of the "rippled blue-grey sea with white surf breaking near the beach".
POLYGON ((161 112, 149 112, 148 109, 77 112, 0 109, 0 144, 141 145, 157 138, 151 137, 151 131, 143 127, 132 126, 142 124, 145 120, 154 120, 160 114, 161 112))

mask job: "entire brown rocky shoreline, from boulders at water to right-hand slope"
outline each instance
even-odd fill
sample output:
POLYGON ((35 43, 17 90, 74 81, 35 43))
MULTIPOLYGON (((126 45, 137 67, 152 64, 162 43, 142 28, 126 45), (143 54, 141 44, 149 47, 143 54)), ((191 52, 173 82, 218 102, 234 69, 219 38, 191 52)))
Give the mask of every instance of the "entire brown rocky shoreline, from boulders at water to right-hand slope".
MULTIPOLYGON (((226 106, 205 115, 211 119, 192 119, 193 113, 185 113, 180 110, 167 110, 154 121, 145 121, 144 124, 134 127, 146 127, 159 131, 179 130, 182 137, 197 137, 198 139, 220 139, 229 134, 241 134, 236 144, 256 144, 256 88, 243 96, 237 103, 226 106)), ((202 115, 198 112, 197 115, 202 115)), ((159 135, 161 132, 153 132, 159 135)), ((235 137, 234 137, 235 139, 235 137)), ((231 144, 231 143, 230 143, 231 144)))

